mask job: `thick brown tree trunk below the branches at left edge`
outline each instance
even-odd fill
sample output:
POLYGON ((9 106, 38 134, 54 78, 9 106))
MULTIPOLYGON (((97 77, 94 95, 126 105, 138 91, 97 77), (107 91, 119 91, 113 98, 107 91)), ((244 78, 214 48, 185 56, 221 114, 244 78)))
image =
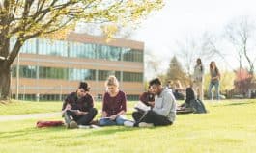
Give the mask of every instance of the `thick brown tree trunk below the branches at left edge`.
POLYGON ((10 66, 5 66, 0 63, 0 100, 9 100, 11 86, 11 71, 10 66))

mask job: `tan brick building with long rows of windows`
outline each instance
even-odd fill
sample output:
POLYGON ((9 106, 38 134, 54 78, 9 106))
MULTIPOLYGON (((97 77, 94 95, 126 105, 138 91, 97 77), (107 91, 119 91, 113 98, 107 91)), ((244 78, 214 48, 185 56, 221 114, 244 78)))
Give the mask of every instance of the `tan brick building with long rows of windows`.
POLYGON ((98 100, 109 75, 120 81, 128 100, 144 90, 144 43, 71 33, 67 40, 32 38, 12 66, 12 95, 23 100, 63 100, 87 81, 98 100))

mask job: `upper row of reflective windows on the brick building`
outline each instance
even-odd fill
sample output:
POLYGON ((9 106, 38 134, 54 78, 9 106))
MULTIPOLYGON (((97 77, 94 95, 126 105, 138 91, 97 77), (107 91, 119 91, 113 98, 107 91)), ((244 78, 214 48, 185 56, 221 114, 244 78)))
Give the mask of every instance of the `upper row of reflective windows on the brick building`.
MULTIPOLYGON (((11 49, 14 43, 15 38, 11 38, 11 49)), ((29 54, 143 63, 143 51, 141 50, 46 38, 31 38, 25 41, 20 51, 29 54)))

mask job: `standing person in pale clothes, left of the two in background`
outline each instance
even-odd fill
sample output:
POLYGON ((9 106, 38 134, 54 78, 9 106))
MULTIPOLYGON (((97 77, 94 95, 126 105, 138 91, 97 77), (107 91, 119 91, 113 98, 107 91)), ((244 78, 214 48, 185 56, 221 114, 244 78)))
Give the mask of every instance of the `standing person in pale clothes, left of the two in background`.
POLYGON ((194 74, 193 74, 193 90, 195 91, 195 96, 197 99, 200 99, 201 101, 204 100, 204 72, 205 68, 202 64, 202 61, 200 58, 196 60, 196 65, 194 67, 194 74))

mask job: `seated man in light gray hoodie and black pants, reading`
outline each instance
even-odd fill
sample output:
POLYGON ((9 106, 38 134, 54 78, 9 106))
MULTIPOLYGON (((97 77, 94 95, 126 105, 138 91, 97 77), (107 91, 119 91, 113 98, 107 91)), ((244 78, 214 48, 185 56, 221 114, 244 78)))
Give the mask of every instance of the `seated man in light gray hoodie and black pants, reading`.
POLYGON ((155 105, 134 126, 150 127, 173 124, 176 118, 176 100, 172 90, 163 88, 158 78, 150 81, 150 88, 155 94, 155 105))

